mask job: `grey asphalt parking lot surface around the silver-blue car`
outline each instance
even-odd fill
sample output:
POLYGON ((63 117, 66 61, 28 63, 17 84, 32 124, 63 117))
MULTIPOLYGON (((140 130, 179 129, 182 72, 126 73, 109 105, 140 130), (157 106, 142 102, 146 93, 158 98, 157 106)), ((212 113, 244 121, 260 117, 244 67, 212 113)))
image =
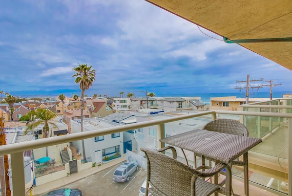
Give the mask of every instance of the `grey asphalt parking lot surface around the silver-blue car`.
POLYGON ((139 196, 139 189, 146 178, 146 171, 140 168, 131 175, 128 182, 115 182, 113 174, 119 165, 89 175, 63 188, 80 188, 83 196, 139 196))

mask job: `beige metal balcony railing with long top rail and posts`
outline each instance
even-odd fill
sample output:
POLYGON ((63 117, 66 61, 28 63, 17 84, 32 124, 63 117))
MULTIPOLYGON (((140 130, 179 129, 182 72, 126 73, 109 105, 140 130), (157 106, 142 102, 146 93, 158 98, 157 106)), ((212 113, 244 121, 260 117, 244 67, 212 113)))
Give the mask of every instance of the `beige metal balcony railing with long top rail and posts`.
MULTIPOLYGON (((262 105, 259 105, 262 106, 262 105)), ((267 107, 267 106, 266 106, 267 107)), ((271 106, 268 106, 271 107, 271 106)), ((278 108, 292 108, 282 107, 278 108)), ((123 126, 104 128, 99 130, 85 131, 68 135, 61 135, 57 137, 44 138, 34 141, 25 141, 21 143, 9 144, 0 146, 0 155, 11 154, 11 169, 13 173, 12 187, 14 196, 25 196, 25 180, 24 180, 24 168, 21 167, 20 163, 23 164, 23 151, 42 148, 46 146, 52 146, 62 144, 66 142, 72 142, 82 140, 91 137, 102 136, 111 133, 117 133, 128 130, 135 130, 138 128, 144 128, 149 126, 157 126, 157 140, 164 138, 165 135, 165 123, 184 120, 193 117, 199 117, 204 115, 212 115, 212 118, 216 118, 216 114, 233 114, 233 115, 249 115, 249 116, 266 116, 266 117, 281 117, 288 118, 289 125, 289 141, 292 141, 292 114, 291 113, 275 113, 275 112, 249 112, 249 111, 224 111, 224 110, 210 110, 198 113, 185 114, 180 116, 169 117, 166 119, 158 119, 152 121, 146 121, 141 123, 128 124, 123 126)), ((163 143, 158 142, 157 148, 162 148, 163 143)), ((289 145, 289 185, 292 184, 292 145, 289 145)), ((288 196, 292 196, 292 186, 289 187, 288 196)))

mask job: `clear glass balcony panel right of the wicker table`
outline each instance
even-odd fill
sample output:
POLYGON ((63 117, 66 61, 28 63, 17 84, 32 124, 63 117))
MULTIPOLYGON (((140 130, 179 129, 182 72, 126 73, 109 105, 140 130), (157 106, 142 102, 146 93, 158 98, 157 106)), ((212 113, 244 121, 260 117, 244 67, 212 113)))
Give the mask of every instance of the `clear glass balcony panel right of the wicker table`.
MULTIPOLYGON (((250 181, 288 194, 288 126, 285 121, 278 117, 245 116, 249 136, 263 139, 249 152, 250 181)), ((239 177, 243 175, 236 167, 234 171, 239 177)))

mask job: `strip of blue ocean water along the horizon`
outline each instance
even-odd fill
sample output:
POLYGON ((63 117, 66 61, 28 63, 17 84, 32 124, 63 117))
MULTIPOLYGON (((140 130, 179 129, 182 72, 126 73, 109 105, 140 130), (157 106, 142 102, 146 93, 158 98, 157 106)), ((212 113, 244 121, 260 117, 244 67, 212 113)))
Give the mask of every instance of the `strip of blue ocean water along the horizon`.
MULTIPOLYGON (((292 91, 272 92, 272 98, 282 98, 283 94, 292 94, 292 91)), ((176 94, 176 95, 156 95, 156 97, 201 97, 201 102, 205 104, 210 103, 211 97, 229 97, 236 96, 237 98, 245 98, 245 92, 234 93, 197 93, 197 94, 176 94)), ((270 98, 270 92, 250 93, 250 98, 270 98)))

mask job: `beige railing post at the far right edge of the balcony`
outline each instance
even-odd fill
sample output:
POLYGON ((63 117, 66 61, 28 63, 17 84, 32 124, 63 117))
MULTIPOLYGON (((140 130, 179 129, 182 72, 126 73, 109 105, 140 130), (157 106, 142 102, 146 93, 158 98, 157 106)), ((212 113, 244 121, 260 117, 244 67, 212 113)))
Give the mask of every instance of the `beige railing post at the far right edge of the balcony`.
POLYGON ((288 196, 292 196, 292 118, 288 118, 288 196))

